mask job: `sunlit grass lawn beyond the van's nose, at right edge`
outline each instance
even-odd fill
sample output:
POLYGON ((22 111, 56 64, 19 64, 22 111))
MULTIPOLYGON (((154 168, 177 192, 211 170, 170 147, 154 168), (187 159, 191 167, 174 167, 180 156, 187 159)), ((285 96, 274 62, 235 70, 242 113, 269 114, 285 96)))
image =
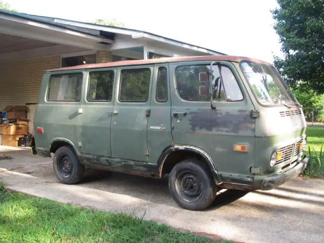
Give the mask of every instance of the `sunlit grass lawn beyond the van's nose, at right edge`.
POLYGON ((307 135, 307 154, 308 146, 314 148, 316 152, 320 151, 320 147, 323 145, 324 149, 324 126, 308 126, 306 130, 307 135))

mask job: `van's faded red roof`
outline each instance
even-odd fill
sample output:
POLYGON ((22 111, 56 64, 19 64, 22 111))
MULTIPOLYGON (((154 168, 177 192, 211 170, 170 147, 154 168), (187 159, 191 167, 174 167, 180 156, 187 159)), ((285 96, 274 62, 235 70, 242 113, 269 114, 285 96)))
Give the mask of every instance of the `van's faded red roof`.
POLYGON ((83 64, 72 67, 62 67, 56 69, 50 69, 47 71, 59 71, 59 70, 74 70, 74 69, 88 69, 88 68, 103 68, 103 67, 115 67, 115 66, 128 66, 128 65, 145 65, 152 63, 164 63, 164 62, 179 62, 179 61, 198 61, 198 60, 224 60, 224 61, 234 61, 240 62, 242 60, 248 60, 253 62, 261 62, 269 64, 268 62, 249 58, 249 57, 239 57, 239 56, 193 56, 193 57, 164 57, 156 59, 146 59, 146 60, 126 60, 118 62, 105 62, 105 63, 94 63, 94 64, 83 64))

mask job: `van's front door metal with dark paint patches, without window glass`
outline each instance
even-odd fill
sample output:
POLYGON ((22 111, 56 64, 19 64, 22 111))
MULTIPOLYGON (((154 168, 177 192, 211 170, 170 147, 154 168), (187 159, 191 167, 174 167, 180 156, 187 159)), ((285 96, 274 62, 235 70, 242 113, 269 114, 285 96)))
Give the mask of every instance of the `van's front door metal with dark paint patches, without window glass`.
POLYGON ((174 143, 199 147, 214 160, 222 181, 243 180, 251 184, 255 166, 255 118, 250 115, 254 106, 231 63, 222 63, 233 72, 244 99, 238 102, 191 102, 182 99, 177 91, 175 69, 182 65, 210 62, 170 64, 171 123, 174 143), (247 152, 236 152, 234 144, 248 145, 247 152))

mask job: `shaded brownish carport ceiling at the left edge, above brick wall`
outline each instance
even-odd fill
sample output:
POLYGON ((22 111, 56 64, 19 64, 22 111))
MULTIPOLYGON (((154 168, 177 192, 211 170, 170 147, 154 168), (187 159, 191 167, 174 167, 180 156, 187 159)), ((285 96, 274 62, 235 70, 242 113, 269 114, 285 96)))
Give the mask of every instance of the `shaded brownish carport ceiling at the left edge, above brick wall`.
POLYGON ((57 44, 37 41, 36 39, 24 38, 15 35, 0 33, 0 54, 31 50, 41 47, 52 47, 57 44))

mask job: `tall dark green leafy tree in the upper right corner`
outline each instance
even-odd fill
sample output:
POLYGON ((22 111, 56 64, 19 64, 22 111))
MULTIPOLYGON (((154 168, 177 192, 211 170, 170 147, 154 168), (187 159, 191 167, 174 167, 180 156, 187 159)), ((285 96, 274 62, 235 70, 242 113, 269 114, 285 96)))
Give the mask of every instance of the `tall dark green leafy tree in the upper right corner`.
POLYGON ((276 20, 284 59, 274 57, 274 66, 287 84, 324 93, 324 2, 322 0, 277 0, 271 11, 276 20))

